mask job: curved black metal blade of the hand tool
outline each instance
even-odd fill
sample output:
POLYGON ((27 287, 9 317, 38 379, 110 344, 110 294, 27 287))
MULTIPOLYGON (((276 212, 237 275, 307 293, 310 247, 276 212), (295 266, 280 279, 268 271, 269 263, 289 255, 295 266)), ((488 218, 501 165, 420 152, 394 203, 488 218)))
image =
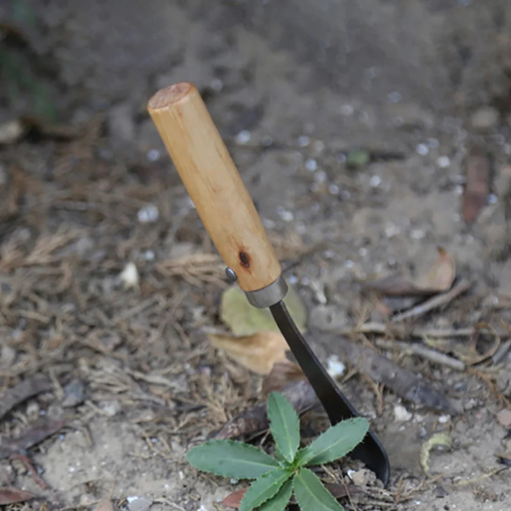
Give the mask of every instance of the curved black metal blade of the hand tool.
MULTIPOLYGON (((272 305, 270 311, 282 335, 286 338, 296 361, 316 392, 319 402, 327 412, 332 425, 345 419, 351 419, 351 417, 358 417, 359 414, 355 407, 339 390, 337 384, 332 380, 303 335, 301 335, 284 302, 280 301, 272 305)), ((385 487, 387 486, 390 476, 390 463, 380 440, 372 431, 367 432, 362 442, 350 453, 350 457, 364 462, 366 467, 376 474, 385 487)))

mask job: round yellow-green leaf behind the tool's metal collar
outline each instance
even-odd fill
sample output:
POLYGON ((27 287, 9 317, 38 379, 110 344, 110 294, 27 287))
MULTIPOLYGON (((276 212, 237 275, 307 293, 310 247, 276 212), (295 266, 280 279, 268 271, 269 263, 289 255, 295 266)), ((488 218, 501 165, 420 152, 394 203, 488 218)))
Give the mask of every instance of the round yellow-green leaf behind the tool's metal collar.
MULTIPOLYGON (((307 309, 293 287, 284 298, 289 314, 300 332, 304 333, 307 323, 307 309)), ((245 293, 238 285, 230 286, 222 293, 220 319, 236 335, 252 335, 269 330, 280 332, 269 309, 258 309, 248 303, 245 293)))

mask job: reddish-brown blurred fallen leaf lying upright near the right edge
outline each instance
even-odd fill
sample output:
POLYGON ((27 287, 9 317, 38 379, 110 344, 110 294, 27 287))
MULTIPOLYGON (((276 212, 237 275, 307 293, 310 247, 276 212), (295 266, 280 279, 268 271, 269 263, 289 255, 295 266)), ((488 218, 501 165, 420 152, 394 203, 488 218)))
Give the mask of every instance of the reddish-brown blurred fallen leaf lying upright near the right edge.
POLYGON ((467 158, 467 184, 463 194, 463 219, 468 224, 475 222, 490 193, 492 164, 479 146, 473 146, 467 158))

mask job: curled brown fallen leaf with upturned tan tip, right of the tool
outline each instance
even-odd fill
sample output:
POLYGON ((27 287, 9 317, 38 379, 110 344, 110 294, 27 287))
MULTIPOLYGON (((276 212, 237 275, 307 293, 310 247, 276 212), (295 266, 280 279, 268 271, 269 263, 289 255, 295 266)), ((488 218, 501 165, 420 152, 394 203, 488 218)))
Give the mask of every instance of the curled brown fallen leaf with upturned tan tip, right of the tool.
POLYGON ((438 259, 425 275, 412 280, 404 275, 389 275, 365 287, 386 296, 423 296, 447 291, 456 277, 454 258, 444 248, 437 247, 438 259))

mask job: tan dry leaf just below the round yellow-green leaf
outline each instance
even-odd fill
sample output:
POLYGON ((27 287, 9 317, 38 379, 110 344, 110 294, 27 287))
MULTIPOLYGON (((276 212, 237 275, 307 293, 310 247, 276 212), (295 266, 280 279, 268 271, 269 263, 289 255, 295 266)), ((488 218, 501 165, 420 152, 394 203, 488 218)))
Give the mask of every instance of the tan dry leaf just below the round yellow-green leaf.
POLYGON ((267 375, 275 362, 286 359, 289 346, 280 332, 262 331, 247 336, 208 334, 216 348, 259 375, 267 375))

